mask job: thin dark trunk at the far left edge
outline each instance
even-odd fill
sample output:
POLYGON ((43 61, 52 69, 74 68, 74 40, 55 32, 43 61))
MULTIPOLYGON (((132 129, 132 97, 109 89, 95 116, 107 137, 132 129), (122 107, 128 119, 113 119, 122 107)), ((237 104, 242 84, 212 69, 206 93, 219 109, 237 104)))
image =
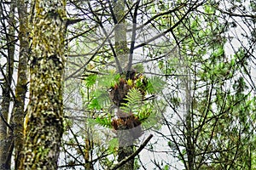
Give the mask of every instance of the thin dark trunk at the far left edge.
MULTIPOLYGON (((3 5, 3 4, 2 4, 3 5)), ((10 3, 9 12, 9 29, 6 32, 6 42, 8 48, 6 72, 3 82, 3 99, 2 99, 2 116, 6 121, 9 120, 9 106, 11 96, 11 83, 14 71, 14 56, 15 56, 15 1, 10 3)), ((5 27, 7 29, 7 27, 5 27)), ((10 129, 5 123, 0 122, 0 169, 10 169, 11 154, 13 150, 12 136, 8 135, 10 129)))

